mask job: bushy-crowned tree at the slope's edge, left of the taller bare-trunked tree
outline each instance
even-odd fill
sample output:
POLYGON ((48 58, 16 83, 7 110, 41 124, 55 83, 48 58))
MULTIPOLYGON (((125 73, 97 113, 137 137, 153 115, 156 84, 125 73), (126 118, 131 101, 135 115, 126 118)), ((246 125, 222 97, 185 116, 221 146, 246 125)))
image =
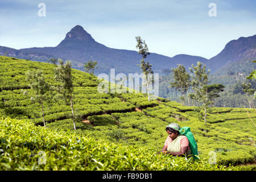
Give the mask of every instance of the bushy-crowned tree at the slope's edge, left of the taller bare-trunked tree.
POLYGON ((181 64, 177 65, 177 68, 172 68, 171 70, 174 73, 175 80, 173 82, 170 82, 171 87, 181 92, 181 101, 183 101, 183 105, 185 105, 184 94, 188 92, 188 88, 190 86, 189 73, 186 72, 184 65, 181 64))

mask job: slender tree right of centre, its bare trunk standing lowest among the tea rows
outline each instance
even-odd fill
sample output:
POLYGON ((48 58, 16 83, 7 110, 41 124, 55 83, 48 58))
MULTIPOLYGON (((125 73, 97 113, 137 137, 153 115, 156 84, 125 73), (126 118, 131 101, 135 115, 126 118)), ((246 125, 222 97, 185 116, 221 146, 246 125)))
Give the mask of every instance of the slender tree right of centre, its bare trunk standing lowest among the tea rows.
POLYGON ((192 64, 192 68, 189 68, 192 75, 192 89, 195 90, 195 99, 202 103, 204 108, 204 122, 207 125, 207 109, 212 104, 209 100, 207 86, 208 85, 208 75, 210 70, 206 71, 206 65, 203 65, 197 61, 197 65, 192 64))

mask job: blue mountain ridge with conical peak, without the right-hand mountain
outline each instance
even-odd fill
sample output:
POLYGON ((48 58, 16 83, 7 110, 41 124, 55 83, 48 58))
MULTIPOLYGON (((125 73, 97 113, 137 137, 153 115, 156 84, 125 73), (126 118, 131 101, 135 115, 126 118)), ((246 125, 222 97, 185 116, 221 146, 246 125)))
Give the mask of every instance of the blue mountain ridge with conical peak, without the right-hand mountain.
MULTIPOLYGON (((136 39, 134 38, 134 49, 135 46, 136 39)), ((148 45, 148 48, 150 50, 150 45, 148 45)), ((137 51, 106 47, 96 42, 79 25, 67 32, 64 40, 61 40, 56 47, 33 47, 17 50, 0 46, 0 55, 5 55, 6 51, 7 56, 32 61, 46 62, 50 57, 71 60, 73 68, 80 69, 81 71, 84 71, 84 63, 89 60, 97 60, 99 68, 96 69, 96 75, 99 73, 109 73, 110 68, 115 68, 116 73, 141 72, 141 68, 137 66, 137 64, 140 64, 141 56, 138 55, 137 51)), ((152 69, 155 73, 162 73, 162 69, 170 69, 180 63, 196 64, 196 61, 203 63, 208 61, 200 56, 176 55, 172 58, 154 52, 150 52, 146 60, 152 64, 152 69)))

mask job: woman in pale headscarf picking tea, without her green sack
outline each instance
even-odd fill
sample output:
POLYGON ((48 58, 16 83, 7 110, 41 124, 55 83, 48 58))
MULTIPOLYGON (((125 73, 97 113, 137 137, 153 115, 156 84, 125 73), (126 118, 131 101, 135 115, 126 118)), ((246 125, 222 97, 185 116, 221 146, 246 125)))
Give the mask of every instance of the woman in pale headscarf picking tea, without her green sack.
POLYGON ((162 152, 163 154, 177 156, 191 155, 188 138, 185 135, 180 135, 179 130, 180 126, 177 123, 171 123, 166 126, 168 137, 164 143, 163 149, 159 151, 158 154, 162 152))

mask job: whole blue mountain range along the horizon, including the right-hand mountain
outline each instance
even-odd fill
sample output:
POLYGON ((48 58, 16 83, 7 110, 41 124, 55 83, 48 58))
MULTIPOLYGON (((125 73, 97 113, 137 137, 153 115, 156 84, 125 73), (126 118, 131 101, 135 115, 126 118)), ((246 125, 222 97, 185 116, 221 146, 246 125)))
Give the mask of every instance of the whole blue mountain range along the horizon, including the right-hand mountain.
MULTIPOLYGON (((134 42, 134 47, 135 47, 134 42)), ((148 45, 150 48, 150 45, 148 45)), ((19 59, 28 59, 33 61, 47 61, 49 58, 61 58, 71 60, 73 68, 84 71, 84 63, 88 60, 98 62, 97 73, 109 73, 110 68, 115 68, 115 73, 139 73, 141 69, 141 56, 137 51, 125 49, 114 49, 96 42, 88 32, 77 25, 69 31, 65 39, 56 47, 33 47, 23 49, 13 49, 0 46, 0 55, 17 57, 19 59)), ((163 69, 175 68, 177 64, 184 64, 186 68, 197 61, 207 65, 211 73, 227 64, 239 60, 255 59, 256 57, 256 35, 248 38, 239 38, 226 44, 225 48, 218 55, 211 59, 205 59, 200 56, 176 55, 168 57, 157 53, 150 53, 146 61, 152 64, 155 73, 162 73, 163 69)))

